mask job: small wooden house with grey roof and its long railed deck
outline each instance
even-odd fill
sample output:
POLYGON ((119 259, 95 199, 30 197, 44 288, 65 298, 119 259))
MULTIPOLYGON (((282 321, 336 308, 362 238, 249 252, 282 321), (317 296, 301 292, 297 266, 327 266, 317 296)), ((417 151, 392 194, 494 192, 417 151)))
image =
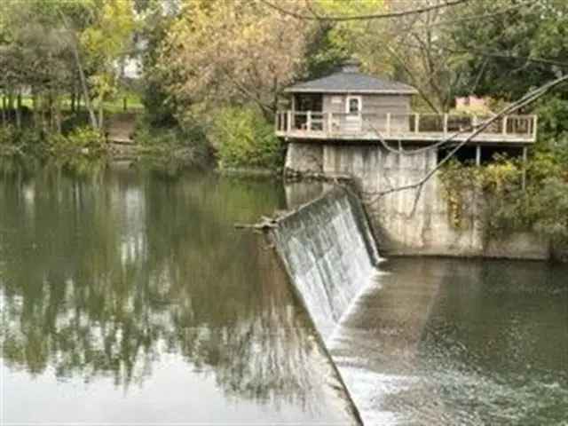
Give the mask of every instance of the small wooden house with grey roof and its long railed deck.
MULTIPOLYGON (((349 62, 331 75, 297 83, 285 90, 289 109, 276 118, 276 134, 287 141, 455 142, 490 116, 419 114, 411 109, 418 91, 405 83, 359 72, 349 62)), ((536 116, 507 115, 471 142, 477 145, 525 146, 536 139, 536 116)))

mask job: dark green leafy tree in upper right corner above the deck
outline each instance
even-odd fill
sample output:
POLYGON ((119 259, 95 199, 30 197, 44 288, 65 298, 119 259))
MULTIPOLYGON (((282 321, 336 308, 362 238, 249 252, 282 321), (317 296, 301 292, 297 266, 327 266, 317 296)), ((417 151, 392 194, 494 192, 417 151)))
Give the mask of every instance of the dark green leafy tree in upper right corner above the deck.
MULTIPOLYGON (((510 6, 509 0, 469 2, 461 12, 489 15, 510 6)), ((511 100, 555 78, 553 62, 564 62, 568 54, 567 28, 564 0, 540 0, 494 13, 483 24, 465 20, 450 28, 446 43, 454 44, 460 92, 511 100)))

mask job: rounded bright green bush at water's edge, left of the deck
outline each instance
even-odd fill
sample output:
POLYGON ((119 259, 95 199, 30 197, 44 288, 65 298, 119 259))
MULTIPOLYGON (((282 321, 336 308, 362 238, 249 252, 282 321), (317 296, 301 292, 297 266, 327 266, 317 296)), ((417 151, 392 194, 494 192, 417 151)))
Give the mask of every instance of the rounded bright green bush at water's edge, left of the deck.
POLYGON ((209 138, 217 148, 219 165, 278 168, 283 150, 271 122, 253 107, 225 107, 212 123, 209 138))

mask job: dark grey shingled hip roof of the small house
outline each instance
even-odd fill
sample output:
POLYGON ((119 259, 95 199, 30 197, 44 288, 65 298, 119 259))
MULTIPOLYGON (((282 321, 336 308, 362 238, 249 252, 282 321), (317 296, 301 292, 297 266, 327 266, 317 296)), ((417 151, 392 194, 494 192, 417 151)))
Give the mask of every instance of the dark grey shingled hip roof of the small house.
POLYGON ((297 83, 285 90, 288 93, 383 93, 414 95, 414 87, 405 83, 359 73, 352 63, 338 72, 317 80, 297 83))

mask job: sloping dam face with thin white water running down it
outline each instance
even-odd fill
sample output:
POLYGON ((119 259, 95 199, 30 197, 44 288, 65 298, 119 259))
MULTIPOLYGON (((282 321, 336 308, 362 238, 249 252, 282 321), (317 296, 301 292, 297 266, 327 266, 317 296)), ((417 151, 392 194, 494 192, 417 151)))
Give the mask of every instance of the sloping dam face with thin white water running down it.
POLYGON ((272 238, 296 295, 332 349, 342 319, 375 282, 379 262, 361 201, 335 187, 281 218, 272 238))

